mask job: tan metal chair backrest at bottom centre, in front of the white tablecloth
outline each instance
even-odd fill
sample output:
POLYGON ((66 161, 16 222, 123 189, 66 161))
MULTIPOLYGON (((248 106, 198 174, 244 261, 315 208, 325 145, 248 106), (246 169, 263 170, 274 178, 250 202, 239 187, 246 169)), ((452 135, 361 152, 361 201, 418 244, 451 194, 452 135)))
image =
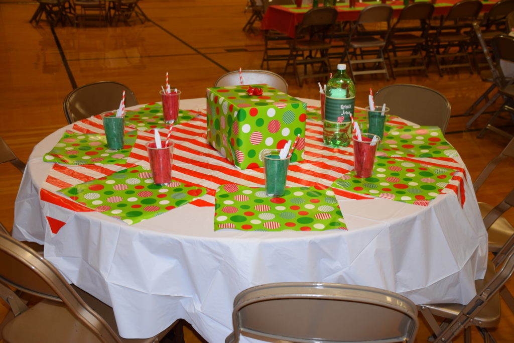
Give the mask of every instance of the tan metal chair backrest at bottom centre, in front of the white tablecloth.
POLYGON ((232 320, 226 342, 241 334, 293 342, 404 342, 418 327, 416 306, 399 294, 310 282, 248 288, 235 297, 232 320))

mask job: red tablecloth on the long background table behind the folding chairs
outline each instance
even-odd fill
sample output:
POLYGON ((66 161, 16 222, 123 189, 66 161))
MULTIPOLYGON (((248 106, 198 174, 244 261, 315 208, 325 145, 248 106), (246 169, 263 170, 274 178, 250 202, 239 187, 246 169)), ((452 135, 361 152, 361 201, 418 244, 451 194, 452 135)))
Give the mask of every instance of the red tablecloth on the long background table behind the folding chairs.
MULTIPOLYGON (((499 0, 492 0, 484 2, 482 11, 489 11, 498 1, 499 0)), ((458 0, 445 0, 444 2, 435 4, 433 15, 448 13, 450 8, 457 2, 458 0)), ((348 4, 336 6, 335 9, 338 13, 337 20, 341 22, 355 21, 358 19, 359 13, 364 7, 376 4, 380 4, 380 2, 356 3, 355 8, 350 8, 348 4)), ((393 15, 397 17, 403 9, 403 1, 392 1, 388 2, 388 4, 393 6, 393 15)), ((289 37, 294 37, 296 26, 303 20, 303 16, 309 9, 310 7, 308 6, 302 6, 301 8, 295 5, 270 6, 261 22, 261 29, 277 30, 286 33, 289 37)))

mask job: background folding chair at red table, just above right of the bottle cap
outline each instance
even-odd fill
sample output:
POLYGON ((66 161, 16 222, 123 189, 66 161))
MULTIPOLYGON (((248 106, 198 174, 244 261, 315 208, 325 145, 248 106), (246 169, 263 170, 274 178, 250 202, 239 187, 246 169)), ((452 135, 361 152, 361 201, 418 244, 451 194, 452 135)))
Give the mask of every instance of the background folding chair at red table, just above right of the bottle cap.
POLYGON ((354 79, 357 75, 386 74, 389 80, 383 49, 388 41, 392 16, 393 8, 383 4, 371 5, 360 11, 359 19, 350 29, 344 49, 354 79), (387 26, 387 29, 380 29, 380 26, 387 26), (375 58, 365 58, 365 56, 375 56, 375 58), (365 63, 372 63, 373 66, 366 67, 365 63), (356 69, 356 65, 362 67, 356 69))

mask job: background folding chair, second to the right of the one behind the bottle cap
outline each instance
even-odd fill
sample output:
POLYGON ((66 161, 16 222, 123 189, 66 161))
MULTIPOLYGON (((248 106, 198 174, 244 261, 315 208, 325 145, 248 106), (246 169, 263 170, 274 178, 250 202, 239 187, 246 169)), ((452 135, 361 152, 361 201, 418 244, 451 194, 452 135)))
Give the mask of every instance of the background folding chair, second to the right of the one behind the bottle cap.
POLYGON ((429 34, 431 56, 439 76, 443 76, 443 69, 459 67, 469 67, 473 74, 468 54, 471 35, 463 30, 471 28, 481 9, 480 0, 462 0, 450 8, 448 14, 441 18, 436 31, 429 34))

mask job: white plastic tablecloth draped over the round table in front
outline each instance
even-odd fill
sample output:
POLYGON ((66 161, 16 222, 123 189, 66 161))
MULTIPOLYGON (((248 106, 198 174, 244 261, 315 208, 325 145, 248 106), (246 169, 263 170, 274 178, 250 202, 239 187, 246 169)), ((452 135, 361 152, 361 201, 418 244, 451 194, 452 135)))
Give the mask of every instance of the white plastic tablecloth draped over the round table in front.
MULTIPOLYGON (((205 99, 182 100, 180 107, 205 109, 205 99)), ((63 132, 34 147, 16 200, 13 236, 44 243, 45 257, 70 282, 112 305, 123 337, 150 337, 183 318, 209 342, 223 342, 232 330, 235 295, 263 283, 352 283, 385 288, 417 304, 466 303, 475 295, 473 281, 483 277, 487 233, 469 175, 463 207, 454 192, 428 207, 340 200, 347 231, 214 231, 214 207, 191 204, 126 225, 40 200, 52 166, 43 155, 63 132), (54 234, 46 216, 66 224, 54 234)))

